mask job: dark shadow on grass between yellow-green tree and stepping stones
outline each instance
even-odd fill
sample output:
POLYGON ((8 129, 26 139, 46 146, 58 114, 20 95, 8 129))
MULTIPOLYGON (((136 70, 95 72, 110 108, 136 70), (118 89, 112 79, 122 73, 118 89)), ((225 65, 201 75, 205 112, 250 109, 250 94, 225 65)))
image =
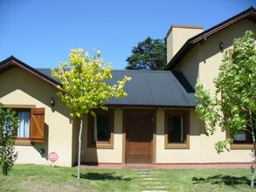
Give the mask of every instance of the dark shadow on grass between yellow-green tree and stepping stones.
MULTIPOLYGON (((77 175, 73 175, 73 177, 77 177, 77 175)), ((105 173, 105 174, 100 174, 100 173, 87 173, 87 174, 80 174, 81 179, 86 179, 86 180, 101 180, 101 181, 126 181, 130 182, 132 179, 131 178, 123 178, 121 176, 114 176, 114 173, 105 173)))

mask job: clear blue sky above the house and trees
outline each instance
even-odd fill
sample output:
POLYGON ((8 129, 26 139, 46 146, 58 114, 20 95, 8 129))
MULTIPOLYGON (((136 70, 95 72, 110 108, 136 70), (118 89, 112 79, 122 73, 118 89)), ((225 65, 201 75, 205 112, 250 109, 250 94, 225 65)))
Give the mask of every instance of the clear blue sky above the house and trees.
POLYGON ((207 30, 251 6, 256 0, 0 0, 0 61, 52 68, 82 48, 120 70, 133 47, 165 38, 171 24, 207 30))

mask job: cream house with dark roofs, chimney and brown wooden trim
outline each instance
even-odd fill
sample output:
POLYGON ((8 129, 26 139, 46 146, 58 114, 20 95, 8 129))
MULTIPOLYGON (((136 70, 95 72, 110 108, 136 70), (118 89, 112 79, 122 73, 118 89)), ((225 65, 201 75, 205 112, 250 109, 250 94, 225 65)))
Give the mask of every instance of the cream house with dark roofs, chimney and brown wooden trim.
MULTIPOLYGON (((81 161, 93 163, 249 163, 253 145, 241 136, 230 152, 218 154, 218 132, 207 137, 195 112, 193 87, 200 78, 214 90, 212 79, 233 38, 256 32, 256 10, 250 8, 207 31, 172 25, 167 33, 165 71, 113 71, 110 83, 132 77, 128 96, 107 101, 108 111, 85 117, 81 161), (221 46, 220 46, 221 45, 221 46), (245 140, 245 141, 243 141, 245 140)), ((0 63, 0 102, 17 111, 17 163, 73 166, 78 158, 79 120, 57 97, 59 81, 50 69, 35 69, 11 56, 0 63)))

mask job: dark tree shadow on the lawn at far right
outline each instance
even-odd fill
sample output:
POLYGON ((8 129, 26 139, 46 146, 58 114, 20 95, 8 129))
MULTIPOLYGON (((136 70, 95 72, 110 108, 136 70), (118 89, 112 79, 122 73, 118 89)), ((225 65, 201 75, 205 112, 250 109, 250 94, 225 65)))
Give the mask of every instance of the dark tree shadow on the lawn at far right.
POLYGON ((211 183, 211 184, 225 184, 234 187, 236 185, 250 185, 250 180, 246 176, 230 176, 230 175, 214 175, 207 178, 192 178, 193 184, 211 183))

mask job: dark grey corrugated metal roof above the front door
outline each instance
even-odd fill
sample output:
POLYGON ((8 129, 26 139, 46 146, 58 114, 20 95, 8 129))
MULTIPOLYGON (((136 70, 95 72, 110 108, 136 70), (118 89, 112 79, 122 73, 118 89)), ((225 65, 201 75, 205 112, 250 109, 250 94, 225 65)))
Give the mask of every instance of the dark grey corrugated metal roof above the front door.
MULTIPOLYGON (((50 69, 38 69, 38 72, 51 77, 50 69)), ((109 84, 116 84, 125 75, 132 78, 125 86, 128 96, 107 100, 107 105, 196 106, 194 93, 188 93, 172 72, 114 70, 109 84)))

